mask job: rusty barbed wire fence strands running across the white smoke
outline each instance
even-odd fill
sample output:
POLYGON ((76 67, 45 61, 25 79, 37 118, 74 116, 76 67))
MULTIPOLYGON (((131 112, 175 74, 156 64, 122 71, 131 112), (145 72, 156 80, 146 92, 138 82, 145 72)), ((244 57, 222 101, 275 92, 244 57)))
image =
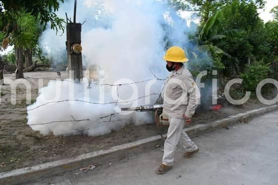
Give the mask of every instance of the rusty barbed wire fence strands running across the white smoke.
MULTIPOLYGON (((152 71, 152 70, 151 70, 152 71)), ((167 79, 167 77, 165 78, 158 78, 155 73, 152 71, 153 75, 155 76, 155 78, 152 79, 146 79, 146 80, 141 80, 141 81, 135 81, 135 82, 130 82, 130 83, 119 83, 119 84, 110 84, 110 83, 96 83, 96 82, 86 82, 86 81, 80 81, 80 82, 76 82, 73 80, 67 80, 67 79, 53 79, 53 78, 44 78, 44 79, 48 79, 48 80, 57 80, 57 81, 66 81, 66 82, 72 82, 72 83, 83 83, 83 84, 88 84, 89 88, 90 85, 99 85, 99 86, 116 86, 116 93, 117 93, 117 100, 112 101, 112 102, 105 102, 105 103, 100 103, 100 102, 90 102, 90 101, 83 101, 83 100, 78 100, 78 99, 67 99, 67 100, 61 100, 61 101, 53 101, 53 102, 47 102, 45 104, 39 105, 37 107, 34 107, 32 109, 27 109, 27 110, 0 110, 0 113, 11 113, 11 112, 20 112, 20 113, 26 113, 29 111, 34 111, 36 109, 42 108, 46 105, 49 104, 59 104, 59 103, 64 103, 64 102, 80 102, 80 103, 87 103, 87 104, 93 104, 93 105, 108 105, 108 104, 115 104, 115 106, 117 106, 118 104, 128 104, 128 103, 132 103, 134 101, 138 101, 138 100, 142 100, 145 99, 147 97, 151 97, 151 96, 158 96, 155 104, 157 104, 160 100, 161 100, 161 93, 151 93, 149 95, 145 95, 142 97, 138 97, 136 99, 133 100, 128 100, 128 101, 121 101, 119 102, 119 95, 120 95, 120 87, 121 86, 125 86, 125 85, 131 85, 131 84, 140 84, 140 83, 144 83, 144 82, 148 82, 148 81, 152 81, 152 80, 158 80, 158 81, 165 81, 167 79)), ((34 78, 34 77, 26 77, 26 79, 38 79, 38 78, 34 78)), ((163 86, 165 85, 165 83, 163 84, 163 86)), ((108 125, 108 124, 113 124, 114 122, 118 122, 118 121, 124 121, 126 119, 113 119, 113 117, 120 115, 120 113, 111 113, 109 115, 106 116, 102 116, 98 119, 97 123, 101 124, 101 125, 108 125), (103 120, 103 121, 102 121, 103 120)), ((73 120, 64 120, 64 121, 50 121, 50 122, 44 122, 44 123, 35 123, 35 124, 25 124, 25 125, 9 125, 9 127, 2 127, 2 128, 18 128, 18 127, 30 127, 30 126, 40 126, 40 125, 49 125, 49 124, 68 124, 68 123, 76 123, 76 124, 80 124, 81 122, 85 122, 85 121, 94 121, 94 120, 90 120, 89 118, 84 118, 84 119, 76 119, 75 117, 73 117, 71 115, 71 117, 73 118, 73 120)), ((55 136, 67 136, 67 135, 74 135, 74 134, 78 134, 78 133, 84 133, 86 131, 92 130, 92 129, 96 129, 98 128, 99 125, 94 126, 94 127, 90 127, 88 129, 76 129, 76 132, 71 132, 71 133, 65 133, 65 134, 58 134, 55 136)))

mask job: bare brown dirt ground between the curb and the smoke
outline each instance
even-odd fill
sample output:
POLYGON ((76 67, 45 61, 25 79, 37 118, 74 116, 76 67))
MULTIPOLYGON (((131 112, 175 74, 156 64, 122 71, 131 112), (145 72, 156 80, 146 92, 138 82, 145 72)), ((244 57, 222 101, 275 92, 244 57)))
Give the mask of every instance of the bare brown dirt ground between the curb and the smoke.
MULTIPOLYGON (((43 84, 47 85, 49 79, 58 78, 56 72, 29 72, 25 78, 32 85, 32 102, 38 96, 38 78, 43 78, 43 84)), ((4 78, 14 79, 15 74, 5 74, 4 78)), ((67 78, 66 72, 61 72, 61 78, 67 78)), ((26 126, 26 90, 23 85, 17 88, 17 104, 11 105, 11 88, 9 85, 1 87, 0 104, 0 172, 16 168, 22 168, 39 163, 77 156, 115 145, 132 142, 166 133, 167 128, 158 130, 152 125, 127 125, 120 130, 100 137, 88 136, 42 136, 26 126), (25 125, 25 127, 17 127, 25 125)), ((219 111, 197 112, 192 123, 206 124, 214 120, 226 118, 229 115, 246 112, 248 110, 265 107, 258 101, 248 101, 240 107, 225 106, 219 111)))

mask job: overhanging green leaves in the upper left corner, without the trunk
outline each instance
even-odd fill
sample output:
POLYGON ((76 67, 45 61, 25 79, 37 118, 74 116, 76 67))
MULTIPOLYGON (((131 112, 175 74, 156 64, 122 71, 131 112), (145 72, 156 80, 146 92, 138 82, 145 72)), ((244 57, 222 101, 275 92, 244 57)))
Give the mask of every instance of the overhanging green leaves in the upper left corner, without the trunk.
MULTIPOLYGON (((58 30, 64 30, 64 20, 57 17, 55 11, 58 10, 59 4, 63 3, 64 0, 3 0, 0 2, 0 31, 4 34, 4 38, 0 38, 2 41, 2 47, 6 49, 11 43, 10 38, 20 37, 14 39, 14 44, 25 43, 23 47, 26 47, 26 43, 31 43, 30 35, 26 34, 20 36, 22 29, 24 28, 23 22, 18 22, 18 20, 24 20, 22 17, 23 13, 29 15, 28 17, 33 17, 32 21, 35 21, 45 28, 47 23, 50 23, 50 28, 58 30), (22 27, 20 27, 20 24, 22 27), (27 38, 28 41, 24 41, 27 38), (18 42, 19 41, 19 42, 18 42)), ((31 20, 30 20, 31 21, 31 20)), ((37 24, 35 24, 37 25, 37 24)), ((25 27, 26 28, 26 27, 25 27)), ((23 29, 24 30, 24 29, 23 29)), ((26 30, 26 29, 25 29, 26 30)), ((34 35, 36 37, 36 35, 34 35)))

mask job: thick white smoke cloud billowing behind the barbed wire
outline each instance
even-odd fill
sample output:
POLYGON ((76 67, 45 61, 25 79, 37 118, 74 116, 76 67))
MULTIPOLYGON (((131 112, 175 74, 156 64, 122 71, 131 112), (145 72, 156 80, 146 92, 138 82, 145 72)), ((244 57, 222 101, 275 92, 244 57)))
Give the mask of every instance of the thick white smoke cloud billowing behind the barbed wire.
MULTIPOLYGON (((60 6, 58 15, 65 17, 65 12, 73 12, 73 2, 65 2, 60 6)), ((104 83, 126 83, 154 78, 151 69, 159 77, 168 75, 165 69, 163 55, 166 41, 173 45, 183 46, 187 39, 184 33, 188 29, 173 10, 162 1, 108 1, 83 0, 78 1, 77 20, 86 23, 82 27, 83 61, 86 66, 97 65, 103 71, 104 83), (169 19, 172 20, 169 24, 169 19), (166 26, 168 25, 168 26, 166 26), (165 36, 168 36, 165 39, 165 36), (128 80, 127 80, 128 79, 128 80)), ((65 57, 59 52, 65 50, 65 34, 55 35, 54 31, 46 30, 40 39, 44 52, 59 61, 65 57)), ((101 77, 102 78, 102 77, 101 77)), ((87 80, 88 81, 88 80, 87 80)), ((84 102, 66 101, 41 106, 45 103, 63 100, 82 100, 88 102, 114 102, 117 99, 133 100, 150 93, 160 93, 162 81, 147 81, 118 87, 92 84, 88 88, 84 83, 69 81, 50 81, 39 90, 36 103, 29 106, 28 124, 32 129, 42 134, 54 135, 67 133, 83 133, 90 136, 107 134, 131 122, 139 125, 152 123, 153 117, 149 113, 132 113, 129 115, 115 115, 100 119, 100 117, 115 113, 118 105, 95 105, 84 102), (154 83, 150 92, 145 92, 147 83, 154 83), (135 85, 135 86, 134 86, 135 85), (74 90, 73 90, 74 89, 74 90), (103 93, 102 93, 103 91, 103 93), (74 92, 74 93, 73 93, 74 92), (114 94, 114 98, 112 96, 114 94), (119 98, 115 98, 116 95, 119 98), (53 99, 54 97, 56 99, 53 99), (41 106, 37 109, 34 109, 41 106), (34 110, 31 110, 34 109, 34 110), (76 122, 75 120, 89 119, 76 122), (107 122, 109 120, 120 120, 107 122), (121 120, 125 119, 125 120, 121 120), (62 123, 48 123, 53 121, 72 121, 62 123), (89 129, 89 130, 87 130, 89 129), (86 130, 86 131, 83 131, 86 130)), ((158 96, 134 101, 133 105, 153 104, 158 96)))

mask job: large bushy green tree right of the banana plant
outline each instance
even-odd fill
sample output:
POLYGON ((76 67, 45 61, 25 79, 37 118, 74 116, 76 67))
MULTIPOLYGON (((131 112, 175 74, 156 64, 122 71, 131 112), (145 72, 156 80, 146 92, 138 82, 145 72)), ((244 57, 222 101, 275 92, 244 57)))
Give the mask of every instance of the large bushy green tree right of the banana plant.
POLYGON ((234 37, 226 38, 216 45, 237 58, 239 66, 235 68, 235 61, 230 58, 222 58, 229 73, 239 73, 244 70, 246 64, 255 60, 259 61, 269 55, 270 48, 266 39, 263 21, 259 18, 257 6, 253 2, 235 0, 221 10, 223 16, 220 19, 218 32, 239 29, 242 30, 234 37), (233 69, 236 69, 233 71, 233 69))

